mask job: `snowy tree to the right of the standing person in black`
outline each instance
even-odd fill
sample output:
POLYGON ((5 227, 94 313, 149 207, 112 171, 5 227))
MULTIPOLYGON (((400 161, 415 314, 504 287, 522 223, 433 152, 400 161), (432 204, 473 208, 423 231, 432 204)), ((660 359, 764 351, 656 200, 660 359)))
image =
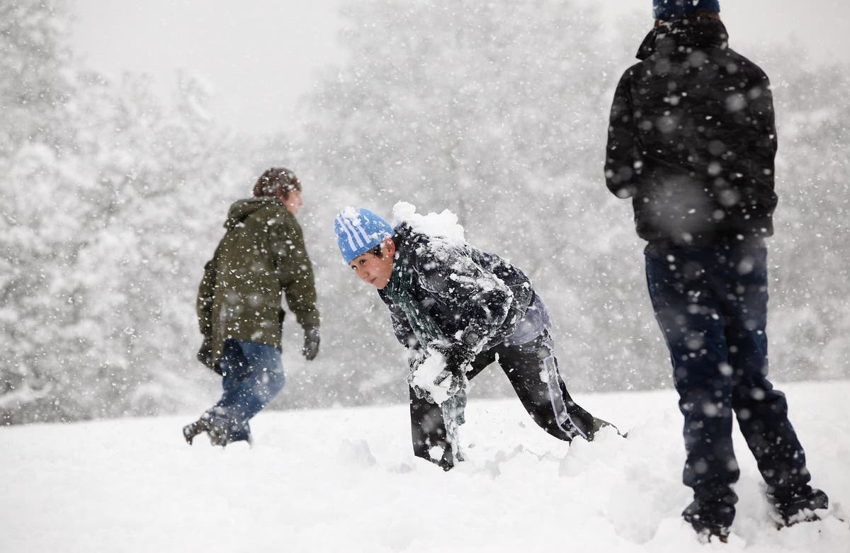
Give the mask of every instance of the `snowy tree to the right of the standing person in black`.
POLYGON ((847 65, 777 61, 776 236, 770 241, 771 359, 785 378, 846 377, 850 368, 847 65))

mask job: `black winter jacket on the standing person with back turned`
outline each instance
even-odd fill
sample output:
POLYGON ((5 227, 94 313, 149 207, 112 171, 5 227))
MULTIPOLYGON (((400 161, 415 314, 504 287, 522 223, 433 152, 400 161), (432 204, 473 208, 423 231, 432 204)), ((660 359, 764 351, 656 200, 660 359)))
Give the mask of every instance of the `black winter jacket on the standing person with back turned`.
POLYGON ((773 234, 776 130, 768 77, 719 20, 649 32, 611 107, 605 178, 650 245, 773 234))

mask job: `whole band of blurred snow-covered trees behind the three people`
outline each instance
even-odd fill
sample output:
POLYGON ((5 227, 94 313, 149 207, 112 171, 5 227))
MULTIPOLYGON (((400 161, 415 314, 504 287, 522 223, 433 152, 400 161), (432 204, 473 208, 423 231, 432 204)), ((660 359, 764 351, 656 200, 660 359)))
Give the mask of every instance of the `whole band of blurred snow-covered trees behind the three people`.
MULTIPOLYGON (((610 99, 645 29, 569 0, 352 1, 347 59, 304 99, 303 124, 254 136, 216 120, 197 76, 163 99, 146 76, 87 71, 63 6, 0 6, 0 420, 206 407, 218 381, 194 359, 197 283, 230 202, 269 166, 303 182, 323 321, 308 364, 287 319, 275 407, 405 401, 386 308, 332 232, 344 206, 391 217, 399 200, 455 212, 467 240, 530 275, 571 390, 670 385, 643 243, 602 175, 610 99)), ((850 68, 744 54, 772 77, 779 123, 772 371, 847 378, 850 68)), ((499 370, 475 384, 509 392, 499 370)))

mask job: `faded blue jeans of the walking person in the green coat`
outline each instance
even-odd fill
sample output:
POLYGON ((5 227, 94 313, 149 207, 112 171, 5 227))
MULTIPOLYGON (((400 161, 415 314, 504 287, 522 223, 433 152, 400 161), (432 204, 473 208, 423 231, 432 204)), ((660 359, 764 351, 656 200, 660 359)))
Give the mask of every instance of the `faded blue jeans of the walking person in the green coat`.
POLYGON ((280 350, 255 341, 227 340, 218 364, 224 394, 207 416, 227 429, 229 442, 250 440, 248 420, 275 398, 286 380, 280 350))

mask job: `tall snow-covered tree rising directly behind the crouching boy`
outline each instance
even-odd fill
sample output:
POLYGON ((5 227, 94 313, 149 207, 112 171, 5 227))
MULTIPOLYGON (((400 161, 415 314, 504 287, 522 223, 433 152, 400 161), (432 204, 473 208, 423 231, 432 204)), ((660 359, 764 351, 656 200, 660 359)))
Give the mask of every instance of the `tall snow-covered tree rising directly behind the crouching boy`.
MULTIPOLYGON (((469 240, 535 280, 571 381, 621 387, 633 356, 626 349, 641 344, 624 338, 628 348, 613 347, 611 358, 595 335, 612 326, 618 341, 638 333, 630 315, 643 298, 631 285, 616 289, 618 272, 638 274, 621 261, 621 244, 635 240, 627 222, 602 213, 609 200, 599 144, 613 85, 601 16, 584 3, 548 0, 370 0, 346 14, 348 62, 327 71, 311 98, 304 146, 332 190, 322 223, 346 203, 386 215, 397 200, 456 212, 469 240)), ((323 255, 337 254, 329 245, 323 255)), ((369 319, 370 339, 349 347, 391 393, 388 375, 401 362, 382 306, 373 313, 368 291, 333 270, 337 293, 369 319)))

